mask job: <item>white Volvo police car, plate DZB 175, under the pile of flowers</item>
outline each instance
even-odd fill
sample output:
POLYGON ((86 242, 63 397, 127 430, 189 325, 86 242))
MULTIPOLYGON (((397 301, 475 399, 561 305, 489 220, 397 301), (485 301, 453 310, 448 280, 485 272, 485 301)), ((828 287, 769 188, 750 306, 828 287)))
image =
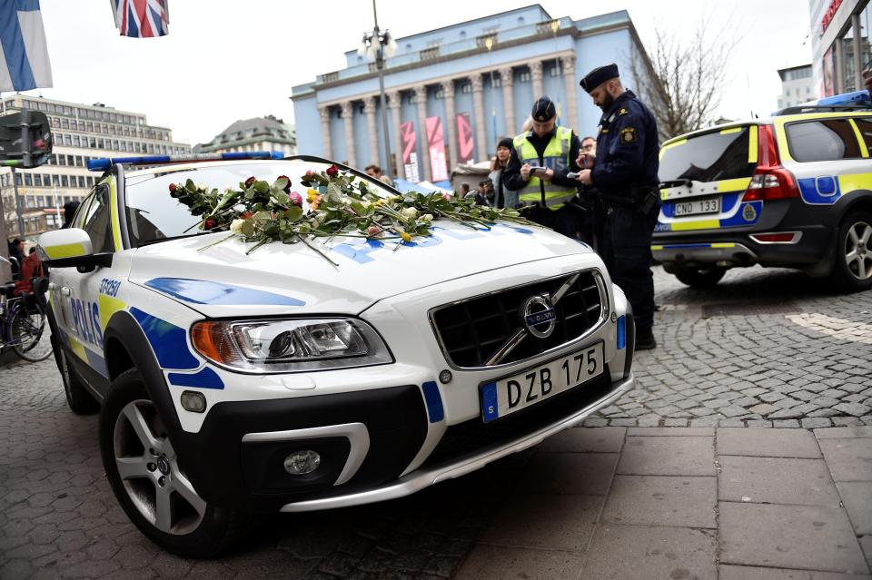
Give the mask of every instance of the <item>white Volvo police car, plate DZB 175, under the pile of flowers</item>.
POLYGON ((40 240, 69 405, 100 408, 109 483, 159 545, 213 555, 250 514, 406 496, 632 388, 632 315, 587 246, 437 221, 397 251, 311 242, 338 267, 304 244, 246 254, 168 185, 299 182, 330 162, 233 157, 107 160, 74 227, 40 240))

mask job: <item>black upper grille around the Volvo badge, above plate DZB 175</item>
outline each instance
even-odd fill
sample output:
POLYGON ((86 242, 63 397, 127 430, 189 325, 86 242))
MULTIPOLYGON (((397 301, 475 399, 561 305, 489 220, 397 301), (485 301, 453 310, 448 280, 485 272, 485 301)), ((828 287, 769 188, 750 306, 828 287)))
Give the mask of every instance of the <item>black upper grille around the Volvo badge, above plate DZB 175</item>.
POLYGON ((550 336, 539 339, 528 332, 499 364, 530 359, 578 339, 596 326, 603 314, 603 297, 594 270, 516 286, 432 310, 431 320, 445 356, 461 369, 487 366, 487 361, 524 327, 520 314, 524 302, 542 293, 553 296, 575 273, 580 274, 579 279, 554 306, 557 322, 550 336))

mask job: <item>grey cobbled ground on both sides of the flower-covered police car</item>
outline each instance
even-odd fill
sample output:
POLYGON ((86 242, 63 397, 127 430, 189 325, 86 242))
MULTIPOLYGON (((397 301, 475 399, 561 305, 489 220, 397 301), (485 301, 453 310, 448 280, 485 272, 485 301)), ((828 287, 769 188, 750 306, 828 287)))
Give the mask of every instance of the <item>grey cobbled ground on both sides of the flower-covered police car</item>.
MULTIPOLYGON (((788 270, 729 272, 706 292, 656 276, 659 348, 639 353, 637 389, 590 426, 872 424, 872 292, 834 294, 788 270)), ((53 360, 0 369, 0 579, 448 577, 540 460, 530 450, 401 500, 275 516, 203 562, 128 522, 96 424, 68 410, 53 360)))

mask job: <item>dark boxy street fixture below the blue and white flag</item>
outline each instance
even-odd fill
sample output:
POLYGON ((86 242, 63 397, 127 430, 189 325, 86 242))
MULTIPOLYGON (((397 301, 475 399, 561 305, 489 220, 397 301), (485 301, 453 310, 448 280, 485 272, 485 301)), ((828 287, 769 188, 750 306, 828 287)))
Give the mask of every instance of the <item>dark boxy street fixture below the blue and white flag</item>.
POLYGON ((52 145, 52 125, 45 113, 26 110, 0 116, 0 162, 6 167, 44 165, 52 145))

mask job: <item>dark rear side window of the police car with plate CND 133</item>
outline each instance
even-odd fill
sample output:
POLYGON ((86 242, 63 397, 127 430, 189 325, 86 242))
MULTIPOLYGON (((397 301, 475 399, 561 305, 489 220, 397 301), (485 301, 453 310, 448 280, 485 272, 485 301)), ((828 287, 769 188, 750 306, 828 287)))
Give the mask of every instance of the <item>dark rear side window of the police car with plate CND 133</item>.
POLYGON ((785 125, 790 156, 798 162, 860 157, 857 135, 847 119, 821 119, 785 125))

